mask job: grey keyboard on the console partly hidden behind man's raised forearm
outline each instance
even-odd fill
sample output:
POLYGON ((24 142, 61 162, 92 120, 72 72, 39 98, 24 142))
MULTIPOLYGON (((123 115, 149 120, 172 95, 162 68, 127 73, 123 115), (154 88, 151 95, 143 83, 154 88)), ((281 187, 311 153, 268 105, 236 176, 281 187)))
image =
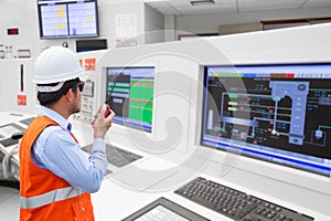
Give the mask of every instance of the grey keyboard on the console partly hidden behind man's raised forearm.
MULTIPOLYGON (((90 152, 92 145, 87 145, 82 149, 90 152)), ((139 155, 120 149, 118 147, 110 146, 108 144, 106 145, 106 155, 108 162, 115 165, 116 167, 127 166, 128 164, 141 158, 141 156, 139 155)))

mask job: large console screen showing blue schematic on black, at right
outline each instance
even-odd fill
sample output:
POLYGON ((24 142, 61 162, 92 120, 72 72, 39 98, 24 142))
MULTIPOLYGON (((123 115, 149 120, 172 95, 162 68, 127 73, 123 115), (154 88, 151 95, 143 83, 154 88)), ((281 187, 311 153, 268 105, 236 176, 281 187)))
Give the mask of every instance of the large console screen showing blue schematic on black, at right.
POLYGON ((201 144, 330 176, 331 64, 205 66, 201 144))

